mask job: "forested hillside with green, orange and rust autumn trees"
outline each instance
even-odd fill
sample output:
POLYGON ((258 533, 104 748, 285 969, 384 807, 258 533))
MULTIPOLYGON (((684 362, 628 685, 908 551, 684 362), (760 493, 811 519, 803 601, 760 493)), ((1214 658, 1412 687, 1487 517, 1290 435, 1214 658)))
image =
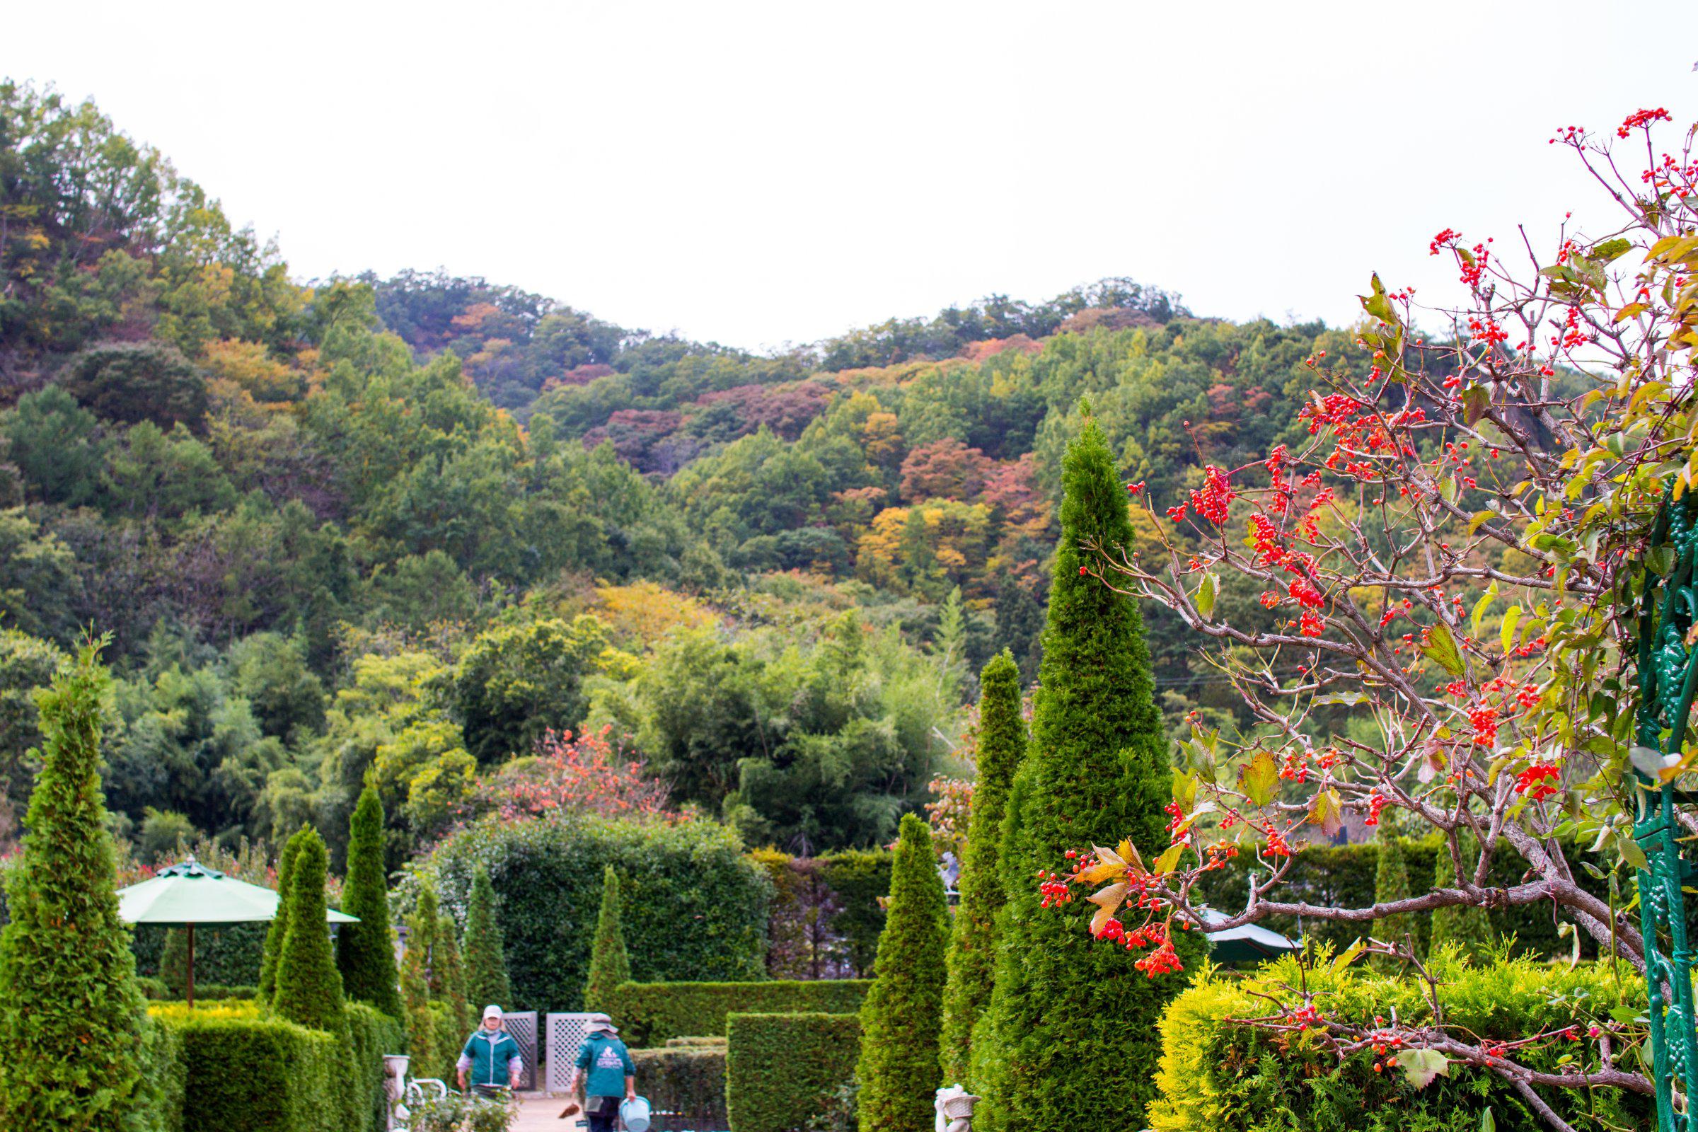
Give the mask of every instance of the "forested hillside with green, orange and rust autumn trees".
MULTIPOLYGON (((399 859, 601 757, 564 731, 754 843, 888 842, 970 672, 1036 675, 1083 404, 1167 507, 1301 428, 1304 360, 1348 341, 1119 278, 778 356, 484 280, 309 283, 10 83, 0 272, 0 840, 29 692, 93 630, 144 854, 346 830, 374 781, 399 859)), ((1150 616, 1170 715, 1224 709, 1150 616)))

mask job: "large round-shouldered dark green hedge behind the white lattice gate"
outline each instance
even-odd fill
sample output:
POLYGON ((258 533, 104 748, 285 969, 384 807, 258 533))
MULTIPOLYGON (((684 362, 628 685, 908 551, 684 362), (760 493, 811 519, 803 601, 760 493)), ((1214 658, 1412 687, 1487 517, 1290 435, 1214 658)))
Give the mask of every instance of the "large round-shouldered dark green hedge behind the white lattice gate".
MULTIPOLYGON (((715 821, 491 818, 467 827, 426 866, 460 925, 479 862, 501 898, 514 1010, 579 1008, 608 864, 620 872, 635 979, 759 979, 766 971, 773 883, 715 821)), ((416 877, 404 884, 402 905, 416 886, 416 877)))

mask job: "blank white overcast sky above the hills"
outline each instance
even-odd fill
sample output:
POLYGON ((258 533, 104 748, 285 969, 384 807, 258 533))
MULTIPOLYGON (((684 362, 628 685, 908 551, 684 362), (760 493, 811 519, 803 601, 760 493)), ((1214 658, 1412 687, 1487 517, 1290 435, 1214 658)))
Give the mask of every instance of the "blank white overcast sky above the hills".
POLYGON ((1608 216, 1554 127, 1698 110, 1698 3, 14 3, 301 278, 445 266, 747 348, 1104 275, 1199 314, 1438 299, 1608 216))

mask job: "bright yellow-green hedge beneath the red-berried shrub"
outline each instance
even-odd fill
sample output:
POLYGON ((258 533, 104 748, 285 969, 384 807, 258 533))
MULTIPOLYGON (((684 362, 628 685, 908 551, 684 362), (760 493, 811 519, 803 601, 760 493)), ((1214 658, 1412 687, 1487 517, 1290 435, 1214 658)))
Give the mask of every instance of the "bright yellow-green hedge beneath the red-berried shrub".
MULTIPOLYGON (((1625 974, 1616 984, 1608 966, 1569 971, 1532 959, 1491 967, 1438 966, 1445 1023, 1484 1039, 1525 1037, 1569 1023, 1584 1028, 1588 1008, 1606 1013, 1616 1003, 1644 1001, 1644 984, 1625 974)), ((1262 974, 1268 983, 1297 986, 1290 959, 1268 964, 1262 974)), ((1404 1020, 1430 1017, 1421 988, 1409 979, 1374 976, 1362 966, 1343 974, 1323 966, 1309 971, 1307 981, 1316 1003, 1324 1003, 1333 1018, 1372 1025, 1375 1015, 1394 1008, 1404 1020)), ((1233 979, 1204 979, 1173 1000, 1160 1027, 1160 1096, 1148 1113, 1155 1132, 1477 1132, 1487 1107, 1498 1129, 1545 1127, 1494 1073, 1450 1066, 1448 1076, 1414 1090, 1403 1073, 1374 1073, 1370 1051, 1340 1064, 1314 1035, 1268 1034, 1228 1022, 1267 1012, 1265 998, 1253 998, 1233 979)), ((1560 1073, 1557 1059, 1564 1056, 1596 1064, 1596 1049, 1584 1040, 1554 1042, 1523 1056, 1545 1073, 1560 1073)), ((1576 1127, 1656 1127, 1644 1096, 1610 1090, 1542 1095, 1576 1127)))

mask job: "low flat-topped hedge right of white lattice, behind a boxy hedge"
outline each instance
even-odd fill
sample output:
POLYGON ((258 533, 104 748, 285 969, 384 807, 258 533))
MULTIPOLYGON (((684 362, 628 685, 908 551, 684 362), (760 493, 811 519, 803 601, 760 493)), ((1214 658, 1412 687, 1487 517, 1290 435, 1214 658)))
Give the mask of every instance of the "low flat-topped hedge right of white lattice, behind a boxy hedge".
POLYGON ((623 983, 608 1013, 628 1045, 674 1037, 725 1035, 734 1013, 852 1015, 871 979, 767 979, 762 983, 623 983))

